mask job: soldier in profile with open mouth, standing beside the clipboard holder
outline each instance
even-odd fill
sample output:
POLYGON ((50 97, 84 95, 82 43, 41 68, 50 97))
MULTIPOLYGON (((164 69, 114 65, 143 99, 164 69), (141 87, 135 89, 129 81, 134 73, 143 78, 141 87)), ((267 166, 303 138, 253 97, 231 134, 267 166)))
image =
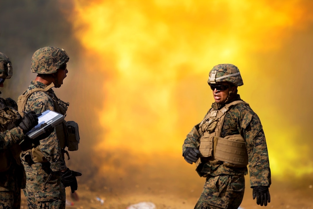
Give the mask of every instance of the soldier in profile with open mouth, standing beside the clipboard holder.
MULTIPOLYGON (((68 61, 67 53, 57 47, 47 46, 35 51, 31 72, 38 75, 22 94, 32 93, 24 101, 25 103, 19 103, 22 95, 19 97, 18 110, 25 108, 25 111, 33 110, 36 113, 52 110, 65 116, 69 104, 58 99, 51 87, 59 88, 63 84, 63 79, 68 72, 66 67, 68 61), (36 89, 41 91, 33 92, 36 89)), ((69 173, 71 180, 74 178, 76 181, 76 178, 65 165, 64 153, 67 151, 60 144, 59 136, 55 129, 49 137, 41 140, 37 147, 21 154, 26 172, 26 188, 23 191, 28 208, 65 208, 65 187, 64 182, 62 184, 61 181, 62 176, 64 173, 69 173)), ((77 182, 75 190, 77 190, 77 182)))

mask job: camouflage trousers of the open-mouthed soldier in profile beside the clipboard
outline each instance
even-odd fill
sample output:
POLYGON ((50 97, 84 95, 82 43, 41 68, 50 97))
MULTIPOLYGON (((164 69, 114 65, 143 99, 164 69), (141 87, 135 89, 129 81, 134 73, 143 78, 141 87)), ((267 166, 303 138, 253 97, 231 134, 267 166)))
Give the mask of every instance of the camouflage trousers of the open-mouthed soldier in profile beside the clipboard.
POLYGON ((29 165, 23 153, 21 158, 26 172, 26 189, 23 191, 28 208, 65 208, 65 188, 60 172, 51 171, 50 163, 29 165))

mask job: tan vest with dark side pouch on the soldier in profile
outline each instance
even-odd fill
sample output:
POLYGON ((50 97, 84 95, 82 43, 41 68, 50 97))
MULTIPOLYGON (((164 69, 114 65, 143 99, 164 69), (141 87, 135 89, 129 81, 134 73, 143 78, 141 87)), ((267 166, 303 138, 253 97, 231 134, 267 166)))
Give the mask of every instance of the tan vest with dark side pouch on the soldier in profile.
MULTIPOLYGON (((50 88, 54 87, 54 83, 51 83, 46 88, 33 88, 29 91, 23 92, 22 95, 18 97, 18 112, 21 116, 24 116, 25 106, 27 99, 31 94, 37 91, 47 92, 50 88)), ((69 106, 69 103, 63 102, 61 99, 57 98, 54 94, 50 95, 52 97, 54 102, 54 108, 56 112, 59 112, 66 115, 67 106, 69 106)), ((59 139, 60 147, 62 149, 62 155, 64 158, 64 153, 67 154, 69 159, 69 153, 64 150, 65 147, 68 147, 68 151, 76 151, 78 150, 78 144, 80 141, 79 137, 79 131, 78 131, 78 124, 74 121, 63 121, 61 124, 55 126, 55 132, 57 134, 57 137, 59 139)), ((28 150, 27 152, 31 153, 31 156, 33 158, 33 161, 35 163, 42 163, 42 162, 48 162, 47 159, 45 159, 44 155, 41 153, 39 147, 34 147, 31 150, 28 150)))

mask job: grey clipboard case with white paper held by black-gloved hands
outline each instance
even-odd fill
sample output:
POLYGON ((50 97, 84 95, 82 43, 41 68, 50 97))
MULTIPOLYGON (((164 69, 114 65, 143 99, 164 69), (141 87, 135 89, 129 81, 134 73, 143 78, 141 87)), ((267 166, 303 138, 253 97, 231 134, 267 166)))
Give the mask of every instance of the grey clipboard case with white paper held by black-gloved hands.
POLYGON ((35 126, 32 130, 28 131, 25 135, 31 139, 34 139, 41 134, 45 133, 45 130, 50 127, 54 127, 62 123, 64 116, 52 110, 44 111, 38 117, 38 125, 35 126))

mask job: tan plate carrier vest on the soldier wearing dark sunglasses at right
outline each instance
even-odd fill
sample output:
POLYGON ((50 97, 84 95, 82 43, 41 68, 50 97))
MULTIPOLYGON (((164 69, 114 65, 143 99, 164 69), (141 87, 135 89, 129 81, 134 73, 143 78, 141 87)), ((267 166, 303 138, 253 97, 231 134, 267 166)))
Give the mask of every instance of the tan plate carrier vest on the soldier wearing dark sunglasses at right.
MULTIPOLYGON (((234 105, 245 103, 237 100, 226 104, 220 110, 209 111, 208 115, 199 124, 199 131, 203 132, 200 138, 199 151, 202 155, 196 163, 211 162, 224 164, 227 167, 241 168, 248 165, 248 153, 244 138, 240 134, 220 137, 226 112, 234 105), (219 162, 222 161, 222 162, 219 162)), ((198 170, 198 168, 197 168, 198 170)))

